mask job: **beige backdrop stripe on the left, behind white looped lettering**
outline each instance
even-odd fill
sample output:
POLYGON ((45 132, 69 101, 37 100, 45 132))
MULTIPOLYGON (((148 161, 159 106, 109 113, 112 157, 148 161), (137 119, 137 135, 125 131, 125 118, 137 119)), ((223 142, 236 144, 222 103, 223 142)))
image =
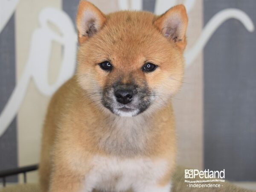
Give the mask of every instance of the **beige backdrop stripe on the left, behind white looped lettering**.
MULTIPOLYGON (((20 0, 15 13, 15 38, 16 38, 16 71, 17 80, 29 56, 32 33, 38 28, 38 16, 45 7, 61 9, 61 0, 20 0)), ((49 62, 49 82, 55 81, 61 63, 61 46, 53 43, 52 54, 49 62)), ((25 166, 38 163, 41 128, 46 113, 49 98, 43 96, 33 81, 30 81, 26 96, 18 112, 18 165, 25 166)), ((28 174, 29 182, 37 182, 37 172, 28 174)))

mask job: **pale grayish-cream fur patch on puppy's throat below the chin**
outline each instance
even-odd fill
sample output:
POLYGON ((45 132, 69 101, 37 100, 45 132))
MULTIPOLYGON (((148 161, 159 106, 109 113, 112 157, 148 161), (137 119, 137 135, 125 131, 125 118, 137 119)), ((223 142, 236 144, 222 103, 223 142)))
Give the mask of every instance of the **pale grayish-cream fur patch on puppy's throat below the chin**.
POLYGON ((143 115, 111 116, 103 129, 99 147, 106 153, 119 157, 145 154, 151 125, 143 115))

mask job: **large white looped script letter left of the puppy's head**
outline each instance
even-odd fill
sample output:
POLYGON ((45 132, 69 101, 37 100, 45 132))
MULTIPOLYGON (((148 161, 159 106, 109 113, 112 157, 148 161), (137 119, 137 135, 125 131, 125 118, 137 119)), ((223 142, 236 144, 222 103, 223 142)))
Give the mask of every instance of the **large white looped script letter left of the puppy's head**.
POLYGON ((40 28, 35 29, 32 35, 29 58, 24 72, 0 115, 0 137, 16 116, 31 78, 34 79, 36 87, 42 94, 50 96, 75 71, 76 31, 70 17, 61 10, 46 8, 39 15, 39 23, 40 28), (53 32, 47 25, 47 22, 51 22, 57 26, 61 32, 61 36, 53 32), (48 67, 52 41, 56 41, 63 46, 63 59, 57 81, 49 85, 48 67))

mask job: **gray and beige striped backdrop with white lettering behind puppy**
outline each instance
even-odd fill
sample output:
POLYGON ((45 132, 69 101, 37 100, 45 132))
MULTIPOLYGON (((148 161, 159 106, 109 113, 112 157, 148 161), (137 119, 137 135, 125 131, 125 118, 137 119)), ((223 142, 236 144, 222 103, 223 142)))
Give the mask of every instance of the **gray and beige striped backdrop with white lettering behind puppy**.
MULTIPOLYGON (((173 99, 180 165, 256 180, 256 1, 91 0, 104 13, 189 15, 183 87, 173 99)), ((38 163, 52 93, 75 70, 79 0, 0 0, 0 170, 38 163)), ((28 175, 36 181, 36 173, 28 175)), ((15 181, 17 178, 9 178, 15 181)))

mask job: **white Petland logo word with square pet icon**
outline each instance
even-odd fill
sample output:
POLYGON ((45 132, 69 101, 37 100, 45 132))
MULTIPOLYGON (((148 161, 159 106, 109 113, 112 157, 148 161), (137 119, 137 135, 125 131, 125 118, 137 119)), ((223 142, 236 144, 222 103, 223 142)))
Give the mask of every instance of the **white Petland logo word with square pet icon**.
POLYGON ((195 179, 196 176, 200 177, 201 179, 224 179, 225 169, 222 171, 210 171, 209 169, 205 169, 204 171, 199 171, 198 169, 185 169, 185 179, 195 179))

